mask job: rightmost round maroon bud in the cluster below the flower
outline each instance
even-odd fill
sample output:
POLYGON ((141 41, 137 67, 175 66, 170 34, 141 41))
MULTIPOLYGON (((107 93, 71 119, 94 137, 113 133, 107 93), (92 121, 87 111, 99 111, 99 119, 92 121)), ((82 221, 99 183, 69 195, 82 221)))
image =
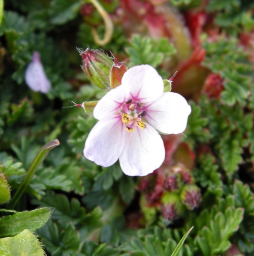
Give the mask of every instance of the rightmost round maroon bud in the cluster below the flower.
POLYGON ((201 202, 200 189, 196 185, 185 185, 181 192, 181 201, 189 209, 193 210, 201 202))

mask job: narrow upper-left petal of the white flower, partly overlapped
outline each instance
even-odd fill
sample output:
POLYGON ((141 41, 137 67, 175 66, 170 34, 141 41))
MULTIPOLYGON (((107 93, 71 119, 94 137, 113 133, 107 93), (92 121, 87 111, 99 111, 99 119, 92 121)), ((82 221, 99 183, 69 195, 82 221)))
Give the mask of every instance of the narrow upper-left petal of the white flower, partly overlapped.
POLYGON ((97 103, 93 110, 93 117, 100 120, 108 113, 115 113, 122 103, 129 100, 129 97, 130 92, 126 87, 118 86, 112 89, 97 103))

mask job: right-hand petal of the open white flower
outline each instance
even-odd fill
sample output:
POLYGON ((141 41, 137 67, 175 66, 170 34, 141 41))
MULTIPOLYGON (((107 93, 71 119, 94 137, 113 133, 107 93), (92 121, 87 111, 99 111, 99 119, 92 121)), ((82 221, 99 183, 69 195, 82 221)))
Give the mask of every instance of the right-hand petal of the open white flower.
POLYGON ((165 134, 178 134, 185 130, 192 111, 187 101, 178 93, 163 93, 156 101, 147 103, 145 119, 156 130, 165 134))

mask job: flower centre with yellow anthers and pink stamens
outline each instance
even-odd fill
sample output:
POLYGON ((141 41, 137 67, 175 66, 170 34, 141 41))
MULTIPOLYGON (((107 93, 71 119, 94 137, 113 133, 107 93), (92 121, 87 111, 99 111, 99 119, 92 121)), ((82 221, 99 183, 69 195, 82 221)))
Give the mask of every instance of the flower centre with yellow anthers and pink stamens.
POLYGON ((142 117, 146 115, 146 111, 142 110, 140 102, 129 100, 120 108, 122 122, 126 124, 126 130, 131 132, 135 126, 145 129, 146 125, 142 121, 142 117))

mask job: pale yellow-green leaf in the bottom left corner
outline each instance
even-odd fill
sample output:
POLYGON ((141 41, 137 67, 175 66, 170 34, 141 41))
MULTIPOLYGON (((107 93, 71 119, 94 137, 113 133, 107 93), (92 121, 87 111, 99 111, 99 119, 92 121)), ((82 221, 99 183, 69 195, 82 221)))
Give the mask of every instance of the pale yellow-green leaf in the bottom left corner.
POLYGON ((0 239, 0 254, 5 256, 44 256, 44 251, 37 237, 28 230, 24 230, 15 237, 0 239))

